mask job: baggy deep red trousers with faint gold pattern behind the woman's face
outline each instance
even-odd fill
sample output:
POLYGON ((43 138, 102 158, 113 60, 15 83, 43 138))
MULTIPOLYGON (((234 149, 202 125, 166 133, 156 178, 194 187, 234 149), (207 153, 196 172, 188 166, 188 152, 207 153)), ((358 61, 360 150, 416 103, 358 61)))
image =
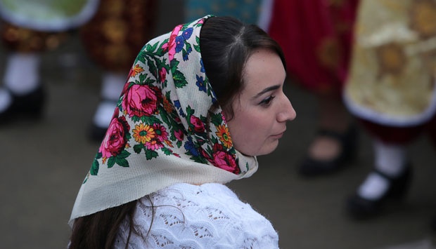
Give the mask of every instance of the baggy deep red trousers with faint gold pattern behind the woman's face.
POLYGON ((342 88, 357 6, 357 0, 274 1, 269 34, 283 48, 290 76, 316 91, 342 88))

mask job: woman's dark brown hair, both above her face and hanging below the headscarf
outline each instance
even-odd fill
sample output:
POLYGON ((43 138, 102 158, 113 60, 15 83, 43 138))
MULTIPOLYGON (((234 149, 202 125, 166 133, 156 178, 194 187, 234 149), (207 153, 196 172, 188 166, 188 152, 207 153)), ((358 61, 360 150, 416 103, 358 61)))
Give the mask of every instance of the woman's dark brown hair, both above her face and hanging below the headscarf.
MULTIPOLYGON (((215 108, 220 105, 233 116, 231 102, 243 90, 243 69, 256 48, 274 51, 286 68, 280 46, 259 27, 244 25, 230 17, 206 20, 200 31, 200 51, 207 78, 217 95, 215 108)), ((154 210, 149 196, 146 197, 154 210)), ((136 201, 77 218, 72 227, 70 249, 112 248, 118 229, 126 218, 129 219, 130 236, 134 232, 136 201)))

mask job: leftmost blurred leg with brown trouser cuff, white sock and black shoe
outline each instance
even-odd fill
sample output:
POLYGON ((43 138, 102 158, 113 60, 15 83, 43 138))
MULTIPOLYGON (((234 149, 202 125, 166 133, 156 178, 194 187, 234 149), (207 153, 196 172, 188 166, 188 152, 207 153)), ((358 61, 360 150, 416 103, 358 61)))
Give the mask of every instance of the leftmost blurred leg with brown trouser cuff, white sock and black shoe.
POLYGON ((65 34, 37 32, 6 22, 1 27, 8 55, 0 88, 0 121, 11 121, 17 114, 40 116, 45 98, 39 76, 40 55, 56 48, 65 34))

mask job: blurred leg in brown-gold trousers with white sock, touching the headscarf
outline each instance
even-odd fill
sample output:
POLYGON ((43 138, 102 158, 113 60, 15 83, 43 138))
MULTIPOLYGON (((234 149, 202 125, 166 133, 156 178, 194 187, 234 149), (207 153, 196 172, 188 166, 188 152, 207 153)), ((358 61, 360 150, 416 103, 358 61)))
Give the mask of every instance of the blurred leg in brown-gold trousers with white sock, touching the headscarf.
POLYGON ((102 0, 94 18, 82 27, 88 55, 104 69, 101 102, 91 126, 94 140, 105 135, 129 69, 150 39, 155 8, 154 0, 102 0))

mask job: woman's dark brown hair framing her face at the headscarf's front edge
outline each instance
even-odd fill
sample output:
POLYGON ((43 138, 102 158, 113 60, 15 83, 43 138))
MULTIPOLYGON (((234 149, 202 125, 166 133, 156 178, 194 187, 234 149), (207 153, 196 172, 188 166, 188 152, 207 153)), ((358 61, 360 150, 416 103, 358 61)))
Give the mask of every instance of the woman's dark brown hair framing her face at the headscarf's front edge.
POLYGON ((285 56, 274 39, 256 25, 245 25, 231 17, 214 17, 205 21, 200 31, 200 51, 206 76, 218 102, 233 117, 231 103, 244 87, 243 73, 250 55, 257 48, 276 53, 286 69, 285 56))

